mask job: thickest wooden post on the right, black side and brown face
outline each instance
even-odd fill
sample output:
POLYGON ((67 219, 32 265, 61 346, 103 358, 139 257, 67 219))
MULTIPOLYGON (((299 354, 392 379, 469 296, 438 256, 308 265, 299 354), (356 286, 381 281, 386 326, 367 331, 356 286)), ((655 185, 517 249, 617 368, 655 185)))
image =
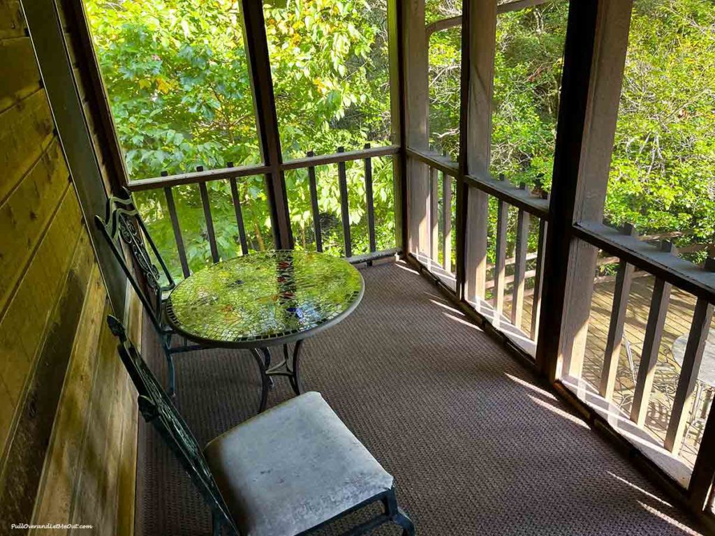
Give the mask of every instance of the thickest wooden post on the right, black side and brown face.
POLYGON ((581 375, 598 252, 573 224, 603 218, 632 4, 569 3, 536 350, 551 381, 581 375))

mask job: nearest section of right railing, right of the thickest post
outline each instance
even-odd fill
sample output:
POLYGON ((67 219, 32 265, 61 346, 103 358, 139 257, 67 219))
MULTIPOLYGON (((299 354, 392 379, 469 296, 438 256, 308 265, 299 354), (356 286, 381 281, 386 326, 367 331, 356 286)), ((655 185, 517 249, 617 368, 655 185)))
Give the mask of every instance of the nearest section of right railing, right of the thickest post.
MULTIPOLYGON (((710 257, 706 259, 704 265, 696 265, 679 257, 672 242, 664 240, 659 246, 649 244, 643 240, 644 237, 638 237, 636 229, 630 224, 623 229, 614 229, 603 224, 578 224, 576 233, 583 241, 619 259, 606 350, 603 356, 603 370, 598 386, 598 393, 608 402, 613 400, 616 370, 626 322, 626 305, 631 294, 635 269, 638 268, 654 277, 641 361, 638 365, 633 402, 628 415, 628 418, 638 427, 645 425, 646 412, 654 391, 654 377, 659 362, 671 290, 675 287, 696 297, 669 425, 662 442, 666 450, 678 454, 683 443, 686 422, 691 417, 691 412, 699 410, 693 407, 692 397, 696 390, 697 377, 712 321, 713 302, 715 302, 715 259, 710 257)), ((646 238, 652 239, 652 237, 646 238)))

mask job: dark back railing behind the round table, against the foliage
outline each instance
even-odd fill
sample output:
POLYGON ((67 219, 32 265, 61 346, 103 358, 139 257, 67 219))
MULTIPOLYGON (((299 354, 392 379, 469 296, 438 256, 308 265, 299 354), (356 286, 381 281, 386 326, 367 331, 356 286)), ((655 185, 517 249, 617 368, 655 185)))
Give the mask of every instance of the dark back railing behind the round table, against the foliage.
MULTIPOLYGON (((373 158, 378 157, 393 157, 398 153, 398 147, 390 145, 387 147, 370 147, 370 144, 365 144, 365 147, 360 150, 346 152, 343 147, 338 147, 335 154, 315 156, 312 152, 308 152, 305 158, 291 160, 280 164, 280 172, 285 172, 291 169, 306 169, 308 174, 308 183, 310 189, 310 206, 313 219, 313 229, 315 231, 315 247, 318 252, 323 251, 322 229, 320 227, 320 211, 318 209, 317 184, 315 177, 315 168, 329 164, 337 164, 338 185, 340 189, 340 220, 342 224, 342 234, 344 239, 345 257, 351 262, 368 262, 371 263, 375 259, 389 257, 394 255, 398 249, 390 248, 382 251, 377 250, 377 242, 375 238, 375 202, 373 199, 373 158), (346 162, 360 161, 364 163, 365 177, 365 212, 368 218, 368 244, 369 250, 366 254, 353 255, 352 237, 350 235, 350 211, 348 203, 348 185, 346 174, 346 162)), ((237 181, 241 177, 252 177, 256 175, 266 174, 269 172, 269 167, 263 165, 234 167, 232 162, 228 162, 226 167, 221 169, 204 170, 203 167, 197 167, 195 172, 169 175, 162 173, 161 177, 152 179, 142 179, 130 182, 128 187, 132 192, 144 192, 147 190, 163 189, 164 197, 167 202, 167 210, 169 219, 174 232, 174 240, 176 242, 177 254, 182 267, 184 277, 188 277, 191 273, 189 269, 189 261, 187 259, 186 248, 184 247, 184 237, 182 228, 179 224, 179 213, 177 212, 176 203, 174 202, 174 187, 184 186, 187 184, 196 184, 199 188, 199 194, 204 214, 204 222, 206 224, 207 240, 211 252, 212 262, 219 262, 220 254, 216 241, 214 222, 212 217, 212 205, 209 199, 207 183, 212 181, 227 181, 230 184, 232 204, 235 210, 236 224, 239 232, 240 246, 242 254, 249 252, 249 243, 247 241, 246 228, 244 224, 241 200, 237 181)), ((269 196, 269 202, 272 202, 269 196)), ((271 214, 278 211, 272 210, 271 214)), ((287 212, 287 211, 286 211, 287 212)), ((289 222, 290 223, 290 222, 289 222)), ((272 217, 272 227, 276 229, 280 222, 275 221, 272 217)))

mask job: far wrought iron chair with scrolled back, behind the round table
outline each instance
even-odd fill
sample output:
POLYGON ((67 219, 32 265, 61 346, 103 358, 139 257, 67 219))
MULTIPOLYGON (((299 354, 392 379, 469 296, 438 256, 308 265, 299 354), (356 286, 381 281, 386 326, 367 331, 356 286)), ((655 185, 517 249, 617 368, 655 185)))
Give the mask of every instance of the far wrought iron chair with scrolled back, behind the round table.
POLYGON ((132 195, 127 189, 123 189, 123 192, 124 199, 121 197, 109 197, 107 199, 107 211, 104 219, 97 215, 94 217, 94 222, 104 238, 107 239, 114 257, 122 266, 124 274, 129 279, 134 291, 137 292, 144 310, 149 314, 149 319, 152 320, 152 324, 154 324, 154 328, 159 334, 169 369, 169 395, 174 396, 176 392, 176 372, 172 355, 179 352, 192 352, 202 347, 198 344, 187 344, 186 339, 180 339, 180 344, 172 344, 175 340, 172 339, 176 332, 169 326, 164 316, 164 302, 169 292, 176 285, 164 259, 159 254, 159 249, 157 249, 152 237, 147 232, 147 227, 144 225, 137 207, 134 206, 132 195), (129 254, 131 254, 134 261, 134 270, 129 269, 127 265, 127 259, 122 251, 122 242, 129 249, 129 254), (149 244, 154 257, 159 262, 161 272, 152 261, 146 244, 149 244), (161 284, 162 275, 167 280, 167 284, 164 286, 161 284), (137 277, 141 278, 141 281, 137 277))

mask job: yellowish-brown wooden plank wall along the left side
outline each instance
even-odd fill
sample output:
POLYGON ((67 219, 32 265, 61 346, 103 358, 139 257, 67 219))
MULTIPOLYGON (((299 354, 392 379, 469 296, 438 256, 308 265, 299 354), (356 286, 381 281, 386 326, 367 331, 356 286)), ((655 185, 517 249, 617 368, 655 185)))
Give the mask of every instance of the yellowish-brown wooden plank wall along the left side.
POLYGON ((0 535, 132 534, 134 389, 16 0, 0 0, 0 169, 0 535))

